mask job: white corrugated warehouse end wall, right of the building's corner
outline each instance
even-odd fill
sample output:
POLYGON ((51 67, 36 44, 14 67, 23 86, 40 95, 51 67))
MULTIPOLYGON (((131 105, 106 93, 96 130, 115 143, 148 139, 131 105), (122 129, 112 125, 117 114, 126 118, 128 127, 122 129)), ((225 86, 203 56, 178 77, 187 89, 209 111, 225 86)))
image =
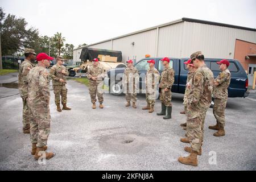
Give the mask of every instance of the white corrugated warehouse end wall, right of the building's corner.
POLYGON ((184 22, 180 57, 202 51, 205 57, 234 59, 236 39, 256 43, 256 32, 209 24, 184 22), (231 54, 230 54, 231 53, 231 54))

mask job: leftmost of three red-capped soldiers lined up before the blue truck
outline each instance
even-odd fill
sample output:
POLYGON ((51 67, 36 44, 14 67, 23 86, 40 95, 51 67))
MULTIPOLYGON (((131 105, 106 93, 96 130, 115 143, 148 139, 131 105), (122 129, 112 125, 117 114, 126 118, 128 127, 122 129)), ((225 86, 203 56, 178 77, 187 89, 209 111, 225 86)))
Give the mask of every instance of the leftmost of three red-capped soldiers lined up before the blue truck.
POLYGON ((133 102, 133 108, 136 109, 139 73, 137 68, 133 66, 133 60, 126 61, 126 63, 127 68, 122 77, 123 93, 125 93, 125 99, 127 101, 125 106, 129 107, 131 102, 133 102))

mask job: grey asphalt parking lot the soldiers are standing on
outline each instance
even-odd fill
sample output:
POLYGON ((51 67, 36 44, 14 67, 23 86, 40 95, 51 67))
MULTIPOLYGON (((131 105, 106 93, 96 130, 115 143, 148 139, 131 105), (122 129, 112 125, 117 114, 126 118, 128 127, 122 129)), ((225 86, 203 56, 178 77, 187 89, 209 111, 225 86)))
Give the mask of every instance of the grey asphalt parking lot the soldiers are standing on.
MULTIPOLYGON (((0 79, 1 81, 1 79, 0 79)), ((3 82, 3 80, 2 80, 3 82)), ((7 86, 8 87, 8 86, 7 86)), ((48 151, 56 156, 39 164, 30 154, 29 135, 22 133, 22 100, 18 89, 0 87, 0 169, 1 170, 255 170, 256 93, 248 98, 229 98, 226 108, 226 136, 213 137, 208 126, 215 123, 212 109, 205 121, 203 154, 199 166, 177 162, 187 156, 188 144, 180 142, 185 131, 183 94, 173 94, 172 119, 164 120, 142 107, 125 107, 124 96, 104 95, 104 109, 91 109, 88 88, 68 80, 68 106, 58 113, 51 90, 51 133, 48 151), (209 163, 216 154, 216 164, 209 163)))

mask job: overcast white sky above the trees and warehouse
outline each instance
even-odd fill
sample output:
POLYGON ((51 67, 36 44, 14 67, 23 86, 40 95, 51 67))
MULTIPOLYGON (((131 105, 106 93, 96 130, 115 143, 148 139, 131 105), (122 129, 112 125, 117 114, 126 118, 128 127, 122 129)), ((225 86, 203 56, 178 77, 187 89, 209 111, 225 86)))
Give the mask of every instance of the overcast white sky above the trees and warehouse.
POLYGON ((40 35, 61 32, 75 47, 183 17, 256 28, 256 0, 0 0, 0 6, 40 35))

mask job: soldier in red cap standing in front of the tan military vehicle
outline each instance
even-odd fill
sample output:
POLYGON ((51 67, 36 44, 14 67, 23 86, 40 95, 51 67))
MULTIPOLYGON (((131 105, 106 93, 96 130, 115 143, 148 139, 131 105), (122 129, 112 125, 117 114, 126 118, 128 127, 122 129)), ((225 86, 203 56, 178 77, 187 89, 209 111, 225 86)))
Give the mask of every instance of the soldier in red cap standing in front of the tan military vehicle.
POLYGON ((92 108, 96 109, 96 94, 98 96, 98 102, 100 102, 100 108, 103 109, 104 106, 102 105, 104 99, 103 99, 103 92, 102 86, 103 80, 106 77, 106 73, 104 72, 104 69, 99 66, 98 59, 93 59, 93 65, 90 66, 87 72, 87 77, 90 81, 89 85, 89 92, 90 92, 90 98, 92 101, 92 108))

